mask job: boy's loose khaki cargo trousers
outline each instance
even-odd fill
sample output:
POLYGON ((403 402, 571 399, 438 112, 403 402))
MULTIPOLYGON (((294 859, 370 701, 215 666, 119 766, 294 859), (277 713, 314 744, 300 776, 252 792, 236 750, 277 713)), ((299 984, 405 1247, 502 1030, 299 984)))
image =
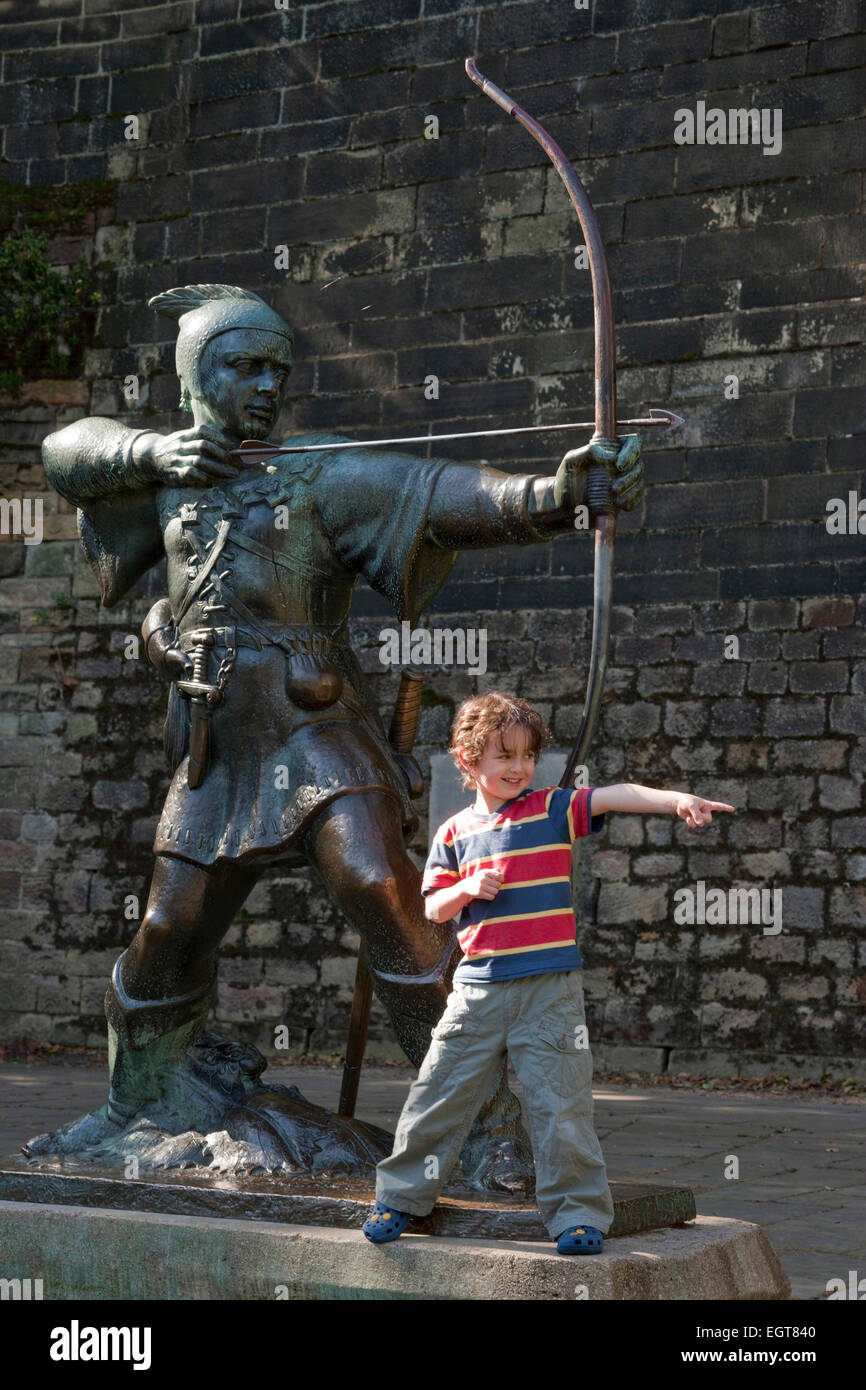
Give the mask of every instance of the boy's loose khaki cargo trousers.
POLYGON ((523 1086, 535 1200, 556 1240, 609 1230, 613 1201, 592 1127, 592 1054, 580 970, 484 984, 455 981, 406 1098, 375 1195, 413 1216, 432 1211, 507 1051, 523 1086))

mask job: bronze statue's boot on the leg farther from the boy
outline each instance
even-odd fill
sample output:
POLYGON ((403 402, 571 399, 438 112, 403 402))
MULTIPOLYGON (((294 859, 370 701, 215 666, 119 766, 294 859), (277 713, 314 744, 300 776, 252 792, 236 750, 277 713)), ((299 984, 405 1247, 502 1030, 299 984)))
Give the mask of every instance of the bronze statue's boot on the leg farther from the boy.
POLYGON ((188 994, 133 999, 124 988, 122 960, 114 966, 106 992, 111 1079, 106 1109, 108 1119, 126 1126, 147 1105, 175 1098, 181 1062, 204 1031, 215 974, 188 994))

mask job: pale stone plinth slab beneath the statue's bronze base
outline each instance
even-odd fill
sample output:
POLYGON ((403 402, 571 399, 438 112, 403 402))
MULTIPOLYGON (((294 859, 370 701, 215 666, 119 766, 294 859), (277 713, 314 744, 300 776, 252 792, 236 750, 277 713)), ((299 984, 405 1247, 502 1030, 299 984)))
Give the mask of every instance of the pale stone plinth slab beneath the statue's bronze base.
POLYGON ((0 1201, 6 1277, 46 1300, 765 1300, 790 1286, 759 1226, 699 1216, 563 1257, 535 1241, 403 1236, 0 1201))

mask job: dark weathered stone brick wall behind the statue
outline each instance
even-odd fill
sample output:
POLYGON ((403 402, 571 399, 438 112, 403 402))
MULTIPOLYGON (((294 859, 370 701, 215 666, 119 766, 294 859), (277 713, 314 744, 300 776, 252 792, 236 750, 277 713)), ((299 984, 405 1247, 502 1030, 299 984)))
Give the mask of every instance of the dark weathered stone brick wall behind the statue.
MULTIPOLYGON (((83 381, 4 406, 7 498, 44 488, 39 442, 78 414, 179 427, 172 343, 145 302, 188 281, 259 289, 295 324, 285 432, 587 418, 582 238, 542 152, 463 58, 548 125, 609 249, 620 414, 669 406, 687 421, 646 438, 646 499, 620 520, 591 771, 738 808, 705 831, 612 817, 584 853, 596 1061, 865 1074, 866 556, 856 525, 826 527, 863 473, 853 0, 3 0, 0 18, 7 207, 28 221, 46 189, 111 190, 53 227, 53 259, 83 247, 104 307, 83 381), (676 113, 698 101, 780 110, 780 153, 677 145, 676 113), (674 892, 698 881, 781 888, 783 931, 678 926, 674 892)), ((552 471, 567 445, 452 453, 552 471)), ((42 545, 0 538, 0 1037, 97 1042, 167 785, 164 689, 124 655, 160 577, 101 610, 74 516, 51 495, 46 507, 42 545)), ((464 555, 434 620, 487 627, 488 673, 431 680, 421 763, 475 685, 538 702, 567 742, 589 598, 585 537, 464 555)), ((360 589, 356 613, 386 710, 388 610, 360 589)), ((304 873, 272 872, 227 938, 218 1023, 265 1047, 288 1023, 293 1051, 339 1049, 354 947, 304 873)), ((393 1051, 381 1012, 371 1036, 393 1051)))

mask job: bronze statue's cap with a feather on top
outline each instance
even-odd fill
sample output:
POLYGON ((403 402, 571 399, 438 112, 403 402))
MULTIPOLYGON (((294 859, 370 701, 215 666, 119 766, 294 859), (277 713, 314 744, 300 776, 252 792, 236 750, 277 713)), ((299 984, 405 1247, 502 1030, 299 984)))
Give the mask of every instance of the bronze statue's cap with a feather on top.
MULTIPOLYGON (((293 348, 295 338, 285 318, 265 304, 260 295, 238 285, 182 285, 167 289, 147 300, 149 309, 178 320, 175 368, 183 385, 183 395, 202 395, 199 366, 202 353, 211 338, 234 328, 279 334, 293 348)), ((189 402, 185 400, 189 409, 189 402)))

